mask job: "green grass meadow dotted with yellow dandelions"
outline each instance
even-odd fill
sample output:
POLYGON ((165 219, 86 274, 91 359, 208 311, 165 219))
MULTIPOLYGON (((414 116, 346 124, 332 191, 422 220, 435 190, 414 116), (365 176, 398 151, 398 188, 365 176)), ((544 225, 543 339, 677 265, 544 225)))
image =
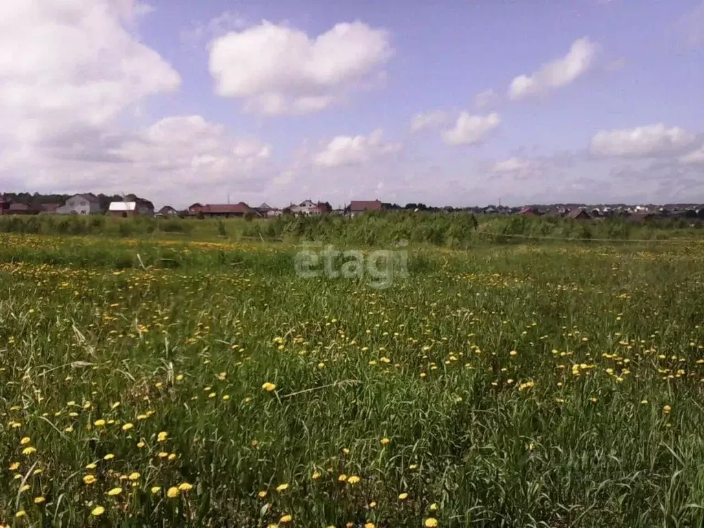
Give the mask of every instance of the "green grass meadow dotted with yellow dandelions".
POLYGON ((295 251, 0 234, 0 522, 702 526, 703 244, 295 251))

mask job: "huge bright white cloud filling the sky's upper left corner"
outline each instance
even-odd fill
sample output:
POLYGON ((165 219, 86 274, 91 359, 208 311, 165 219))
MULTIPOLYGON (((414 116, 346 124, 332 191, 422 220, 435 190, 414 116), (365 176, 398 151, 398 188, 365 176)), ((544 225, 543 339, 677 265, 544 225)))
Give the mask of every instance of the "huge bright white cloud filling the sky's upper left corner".
POLYGON ((177 89, 178 73, 128 30, 147 11, 134 0, 0 2, 0 141, 73 138, 177 89))

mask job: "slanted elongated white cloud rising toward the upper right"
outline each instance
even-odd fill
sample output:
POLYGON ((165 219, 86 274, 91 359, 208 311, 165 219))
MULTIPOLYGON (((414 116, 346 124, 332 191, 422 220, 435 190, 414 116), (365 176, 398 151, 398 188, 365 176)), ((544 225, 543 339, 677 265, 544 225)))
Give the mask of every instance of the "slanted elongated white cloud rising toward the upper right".
POLYGON ((531 75, 515 77, 508 89, 508 96, 514 100, 524 99, 572 84, 591 69, 597 51, 598 46, 588 37, 575 40, 564 57, 543 64, 531 75))

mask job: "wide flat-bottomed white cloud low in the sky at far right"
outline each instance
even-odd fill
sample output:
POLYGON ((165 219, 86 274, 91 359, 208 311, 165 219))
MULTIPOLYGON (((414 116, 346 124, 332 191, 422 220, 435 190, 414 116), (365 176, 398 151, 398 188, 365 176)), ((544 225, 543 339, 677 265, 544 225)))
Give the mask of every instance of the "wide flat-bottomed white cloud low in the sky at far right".
POLYGON ((672 156, 690 147, 696 135, 662 123, 620 130, 600 130, 591 139, 594 156, 653 158, 672 156))

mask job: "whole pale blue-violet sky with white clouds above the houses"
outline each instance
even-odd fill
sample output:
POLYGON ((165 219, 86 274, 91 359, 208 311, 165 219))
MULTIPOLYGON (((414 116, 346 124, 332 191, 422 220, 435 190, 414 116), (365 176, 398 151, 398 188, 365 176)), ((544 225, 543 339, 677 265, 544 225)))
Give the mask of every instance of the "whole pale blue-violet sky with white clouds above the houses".
POLYGON ((703 0, 0 3, 0 192, 704 202, 703 0))

